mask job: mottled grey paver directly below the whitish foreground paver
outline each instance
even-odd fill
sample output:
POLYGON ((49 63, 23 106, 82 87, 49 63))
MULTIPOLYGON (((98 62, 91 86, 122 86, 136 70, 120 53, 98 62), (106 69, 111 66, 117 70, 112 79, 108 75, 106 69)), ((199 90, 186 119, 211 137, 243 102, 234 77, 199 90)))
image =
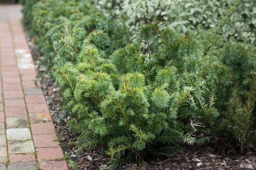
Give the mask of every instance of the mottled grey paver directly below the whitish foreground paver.
POLYGON ((8 141, 9 154, 34 153, 33 141, 8 141))

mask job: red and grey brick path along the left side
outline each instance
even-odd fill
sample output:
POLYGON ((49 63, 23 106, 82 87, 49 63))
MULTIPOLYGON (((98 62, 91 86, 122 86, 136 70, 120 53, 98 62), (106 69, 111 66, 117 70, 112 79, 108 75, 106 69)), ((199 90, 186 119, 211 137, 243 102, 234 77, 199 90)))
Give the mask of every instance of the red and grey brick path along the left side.
POLYGON ((20 8, 0 6, 0 170, 65 170, 67 164, 35 78, 20 8))

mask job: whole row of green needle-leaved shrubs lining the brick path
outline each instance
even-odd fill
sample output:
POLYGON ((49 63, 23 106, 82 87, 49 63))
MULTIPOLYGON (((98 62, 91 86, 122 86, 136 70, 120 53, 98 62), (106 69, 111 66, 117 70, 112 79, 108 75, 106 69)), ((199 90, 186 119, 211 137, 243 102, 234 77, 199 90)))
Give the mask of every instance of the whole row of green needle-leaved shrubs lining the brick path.
POLYGON ((114 169, 171 157, 181 143, 253 148, 255 50, 218 34, 240 3, 198 35, 151 23, 133 36, 99 1, 24 1, 23 22, 60 87, 80 152, 99 148, 114 169))

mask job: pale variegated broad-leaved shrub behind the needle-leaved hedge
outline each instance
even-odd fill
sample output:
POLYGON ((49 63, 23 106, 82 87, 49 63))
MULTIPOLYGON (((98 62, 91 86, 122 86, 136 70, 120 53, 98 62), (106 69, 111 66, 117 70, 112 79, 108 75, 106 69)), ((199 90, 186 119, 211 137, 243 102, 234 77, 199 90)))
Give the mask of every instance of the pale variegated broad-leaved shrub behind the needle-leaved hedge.
MULTIPOLYGON (((104 0, 111 2, 112 0, 104 0)), ((256 44, 255 1, 239 0, 240 5, 220 30, 225 39, 246 39, 256 44)), ((187 29, 198 32, 217 26, 233 0, 119 0, 115 13, 124 13, 125 24, 134 28, 149 22, 159 23, 161 28, 174 28, 185 33, 187 29)))

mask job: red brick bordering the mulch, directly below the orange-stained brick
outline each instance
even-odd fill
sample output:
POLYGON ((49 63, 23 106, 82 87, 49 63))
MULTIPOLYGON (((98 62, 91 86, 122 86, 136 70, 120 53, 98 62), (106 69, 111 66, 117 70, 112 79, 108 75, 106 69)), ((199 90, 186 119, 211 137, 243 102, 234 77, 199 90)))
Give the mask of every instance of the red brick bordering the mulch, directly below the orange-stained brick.
POLYGON ((40 134, 55 134, 55 129, 52 122, 48 123, 31 123, 31 131, 33 135, 40 134))

